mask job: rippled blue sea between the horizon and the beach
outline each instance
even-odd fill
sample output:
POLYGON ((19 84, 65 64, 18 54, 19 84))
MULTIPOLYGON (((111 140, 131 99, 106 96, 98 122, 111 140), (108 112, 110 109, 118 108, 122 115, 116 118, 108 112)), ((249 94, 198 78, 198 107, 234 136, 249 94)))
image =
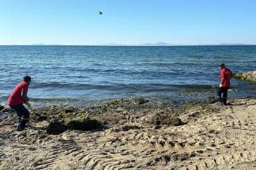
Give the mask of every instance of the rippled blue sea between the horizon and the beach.
MULTIPOLYGON (((256 45, 210 46, 0 46, 0 105, 24 76, 32 77, 32 108, 79 108, 114 99, 164 103, 217 96, 224 63, 235 75, 256 70, 256 45)), ((231 79, 228 98, 255 96, 256 83, 231 79)))

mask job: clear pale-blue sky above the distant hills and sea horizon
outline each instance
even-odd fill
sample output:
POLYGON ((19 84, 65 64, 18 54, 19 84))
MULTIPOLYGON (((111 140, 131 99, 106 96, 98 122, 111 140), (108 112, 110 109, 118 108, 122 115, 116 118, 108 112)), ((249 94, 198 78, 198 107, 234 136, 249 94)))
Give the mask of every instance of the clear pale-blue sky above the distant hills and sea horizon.
POLYGON ((255 0, 0 0, 0 45, 256 44, 255 9, 255 0))

